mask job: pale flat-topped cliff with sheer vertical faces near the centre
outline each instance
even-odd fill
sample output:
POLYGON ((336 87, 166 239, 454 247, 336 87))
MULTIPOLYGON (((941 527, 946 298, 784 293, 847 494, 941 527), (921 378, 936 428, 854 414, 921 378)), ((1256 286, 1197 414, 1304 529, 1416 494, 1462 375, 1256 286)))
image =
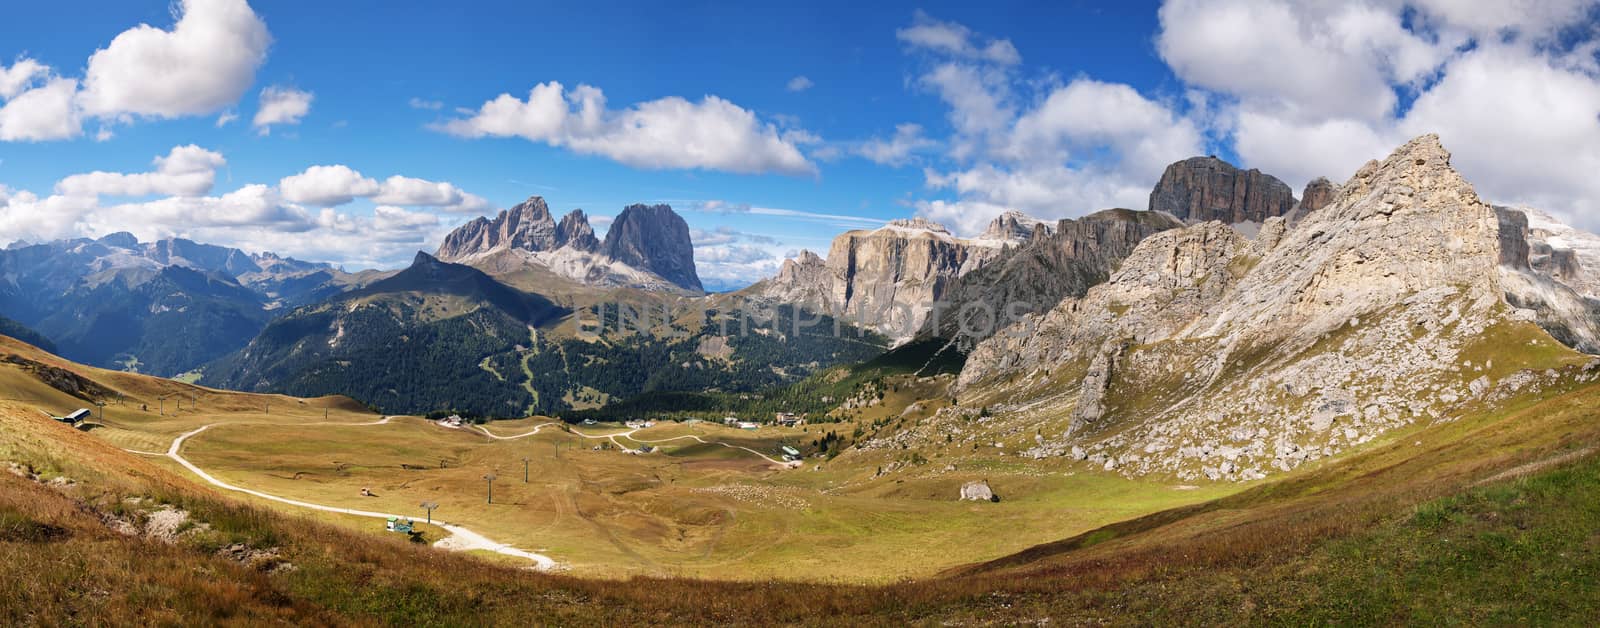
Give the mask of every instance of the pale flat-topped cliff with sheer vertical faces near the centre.
POLYGON ((834 239, 827 260, 802 255, 776 277, 750 292, 832 312, 894 340, 912 338, 957 277, 1021 245, 1019 232, 1048 234, 1021 215, 1002 215, 984 237, 955 237, 923 219, 896 219, 878 229, 850 231, 834 239))

